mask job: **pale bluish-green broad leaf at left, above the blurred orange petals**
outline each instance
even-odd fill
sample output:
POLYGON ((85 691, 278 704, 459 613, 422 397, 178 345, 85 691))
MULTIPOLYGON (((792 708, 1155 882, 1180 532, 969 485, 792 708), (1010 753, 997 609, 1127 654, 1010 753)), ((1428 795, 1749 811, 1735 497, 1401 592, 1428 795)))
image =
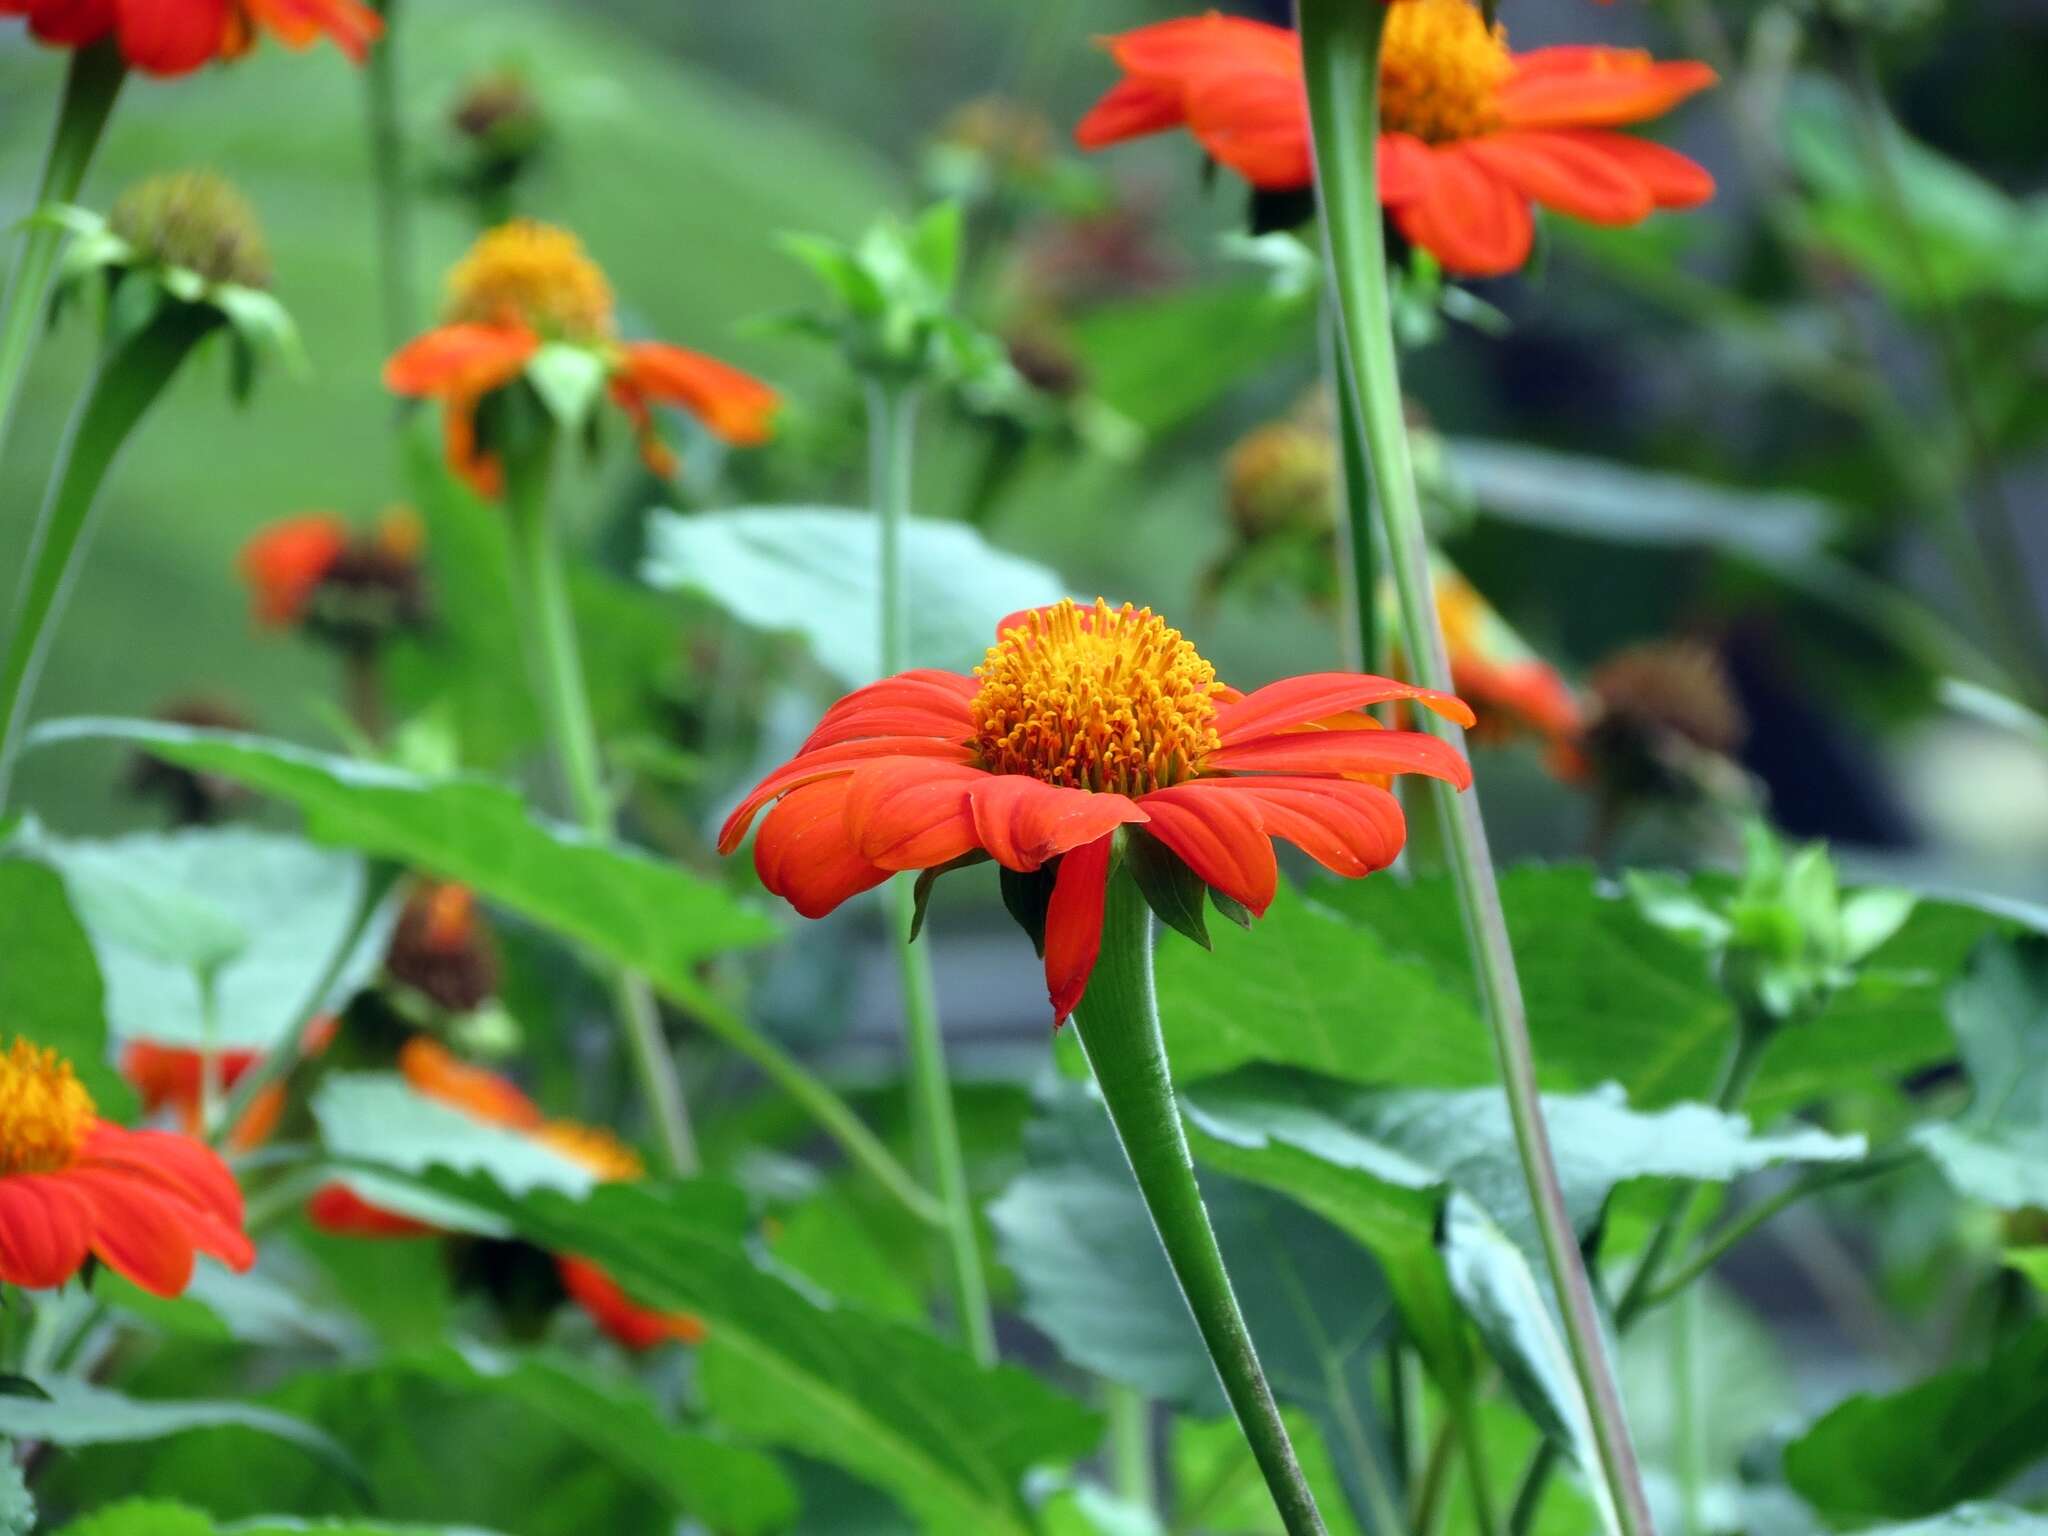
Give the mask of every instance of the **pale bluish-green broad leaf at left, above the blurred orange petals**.
POLYGON ((41 836, 35 850, 63 872, 92 934, 117 1040, 266 1051, 383 958, 387 924, 334 973, 362 905, 352 854, 244 827, 41 836), (209 963, 219 965, 211 1026, 197 975, 209 963))

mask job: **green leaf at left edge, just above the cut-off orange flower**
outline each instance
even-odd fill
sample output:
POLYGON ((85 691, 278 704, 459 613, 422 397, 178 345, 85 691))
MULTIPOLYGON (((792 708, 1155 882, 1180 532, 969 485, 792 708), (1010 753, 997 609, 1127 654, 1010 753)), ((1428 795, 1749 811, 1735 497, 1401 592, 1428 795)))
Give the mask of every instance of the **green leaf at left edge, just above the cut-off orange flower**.
POLYGON ((135 1096, 106 1055, 106 1010, 92 942, 55 870, 0 860, 0 1044, 16 1034, 78 1071, 100 1114, 125 1120, 135 1096))

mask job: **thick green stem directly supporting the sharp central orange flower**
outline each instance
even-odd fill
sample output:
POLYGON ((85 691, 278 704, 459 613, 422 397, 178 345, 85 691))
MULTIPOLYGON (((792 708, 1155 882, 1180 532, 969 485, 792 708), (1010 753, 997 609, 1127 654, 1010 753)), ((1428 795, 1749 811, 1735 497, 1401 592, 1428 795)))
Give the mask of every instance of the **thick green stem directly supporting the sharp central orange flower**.
POLYGON ((1102 958, 1096 961, 1075 1028, 1153 1229, 1280 1520, 1288 1536, 1323 1536, 1323 1516, 1280 1421, 1272 1386, 1266 1384, 1266 1370, 1223 1268, 1223 1249, 1217 1247, 1217 1233, 1202 1206, 1202 1190, 1194 1182, 1194 1159, 1174 1100, 1165 1036, 1159 1032, 1151 909, 1128 870, 1110 874, 1102 911, 1102 958))

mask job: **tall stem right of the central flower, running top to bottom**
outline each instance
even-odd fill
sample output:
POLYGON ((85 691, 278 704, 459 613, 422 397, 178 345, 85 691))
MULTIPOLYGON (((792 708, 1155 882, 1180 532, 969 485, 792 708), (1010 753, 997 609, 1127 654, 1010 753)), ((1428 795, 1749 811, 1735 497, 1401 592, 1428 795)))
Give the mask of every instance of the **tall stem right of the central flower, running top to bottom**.
MULTIPOLYGON (((1421 668, 1421 682, 1450 688, 1444 631, 1436 618, 1430 547, 1409 463, 1407 422, 1401 410, 1401 371, 1395 356, 1386 242, 1378 199, 1378 57, 1386 8, 1356 0, 1296 0, 1309 115, 1315 137, 1317 199, 1323 238, 1337 295, 1343 350, 1358 389, 1360 430, 1372 463, 1380 520, 1401 594, 1403 649, 1421 668)), ((1456 727, 1432 729, 1458 741, 1456 727)), ((1434 784, 1444 821, 1450 868, 1464 913, 1466 940, 1479 991, 1493 1030, 1501 1083, 1516 1128, 1516 1149, 1542 1235, 1544 1260, 1563 1309, 1579 1389, 1599 1454, 1599 1475, 1612 1495, 1624 1536, 1651 1536, 1649 1499, 1636 1466, 1622 1395, 1599 1333, 1599 1311, 1585 1274, 1579 1241, 1565 1210, 1565 1196, 1550 1155, 1550 1137, 1536 1092, 1516 956, 1507 942, 1499 881, 1487 852, 1479 799, 1434 784)))

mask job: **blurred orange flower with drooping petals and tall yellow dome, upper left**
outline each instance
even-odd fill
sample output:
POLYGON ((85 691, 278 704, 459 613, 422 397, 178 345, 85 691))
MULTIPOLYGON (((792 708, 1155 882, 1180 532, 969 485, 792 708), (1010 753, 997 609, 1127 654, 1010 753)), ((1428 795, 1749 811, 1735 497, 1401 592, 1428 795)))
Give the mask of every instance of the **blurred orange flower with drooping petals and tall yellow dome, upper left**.
POLYGON ((676 457, 655 434, 655 401, 682 406, 727 442, 768 440, 774 389, 702 352, 621 342, 604 272, 575 236, 530 219, 477 240, 449 274, 449 324, 403 346, 385 365, 385 387, 438 399, 449 463, 481 496, 498 496, 504 469, 477 442, 477 403, 520 379, 549 344, 596 356, 612 401, 633 422, 641 457, 657 475, 672 475, 676 457))

